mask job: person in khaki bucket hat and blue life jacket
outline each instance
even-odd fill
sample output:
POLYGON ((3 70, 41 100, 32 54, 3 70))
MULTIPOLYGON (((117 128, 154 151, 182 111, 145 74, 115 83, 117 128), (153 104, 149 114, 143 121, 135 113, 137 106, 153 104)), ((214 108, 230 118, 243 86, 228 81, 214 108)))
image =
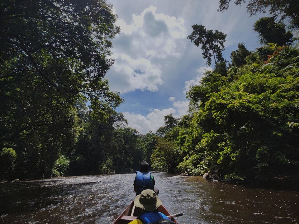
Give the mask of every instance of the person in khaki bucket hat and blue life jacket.
POLYGON ((137 195, 134 200, 134 205, 137 208, 142 208, 144 212, 129 224, 149 224, 159 219, 169 220, 162 212, 157 212, 162 202, 151 189, 143 190, 141 194, 137 195))

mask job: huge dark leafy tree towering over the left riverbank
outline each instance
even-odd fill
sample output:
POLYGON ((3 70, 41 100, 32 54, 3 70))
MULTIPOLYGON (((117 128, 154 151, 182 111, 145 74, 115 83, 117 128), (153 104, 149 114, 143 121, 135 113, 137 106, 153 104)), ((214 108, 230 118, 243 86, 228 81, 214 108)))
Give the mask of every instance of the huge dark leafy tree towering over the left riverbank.
POLYGON ((122 102, 103 78, 117 16, 104 0, 0 5, 0 148, 17 152, 18 177, 50 176, 76 142, 76 101, 89 99, 102 121, 122 102))

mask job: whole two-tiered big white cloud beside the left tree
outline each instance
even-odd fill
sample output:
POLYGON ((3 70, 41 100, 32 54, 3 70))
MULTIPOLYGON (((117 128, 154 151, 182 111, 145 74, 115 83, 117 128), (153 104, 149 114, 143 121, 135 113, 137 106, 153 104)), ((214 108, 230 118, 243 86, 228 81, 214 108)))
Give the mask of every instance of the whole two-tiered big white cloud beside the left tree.
POLYGON ((158 91, 163 74, 153 59, 181 56, 182 40, 187 36, 185 21, 156 10, 154 6, 145 8, 141 14, 133 14, 130 23, 123 19, 116 21, 121 34, 113 39, 111 57, 115 63, 107 72, 111 90, 158 91))

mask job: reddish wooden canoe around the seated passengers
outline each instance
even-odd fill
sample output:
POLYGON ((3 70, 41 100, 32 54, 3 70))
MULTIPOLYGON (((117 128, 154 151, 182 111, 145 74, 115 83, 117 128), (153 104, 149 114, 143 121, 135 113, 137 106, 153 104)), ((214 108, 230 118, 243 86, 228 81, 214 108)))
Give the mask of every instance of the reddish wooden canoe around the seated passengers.
MULTIPOLYGON (((134 220, 137 216, 141 215, 142 209, 134 206, 134 201, 121 213, 121 215, 113 222, 113 224, 128 224, 132 220, 134 220)), ((166 216, 170 216, 171 214, 167 211, 167 209, 160 205, 158 208, 158 212, 162 212, 166 216)), ((174 223, 178 223, 174 218, 170 218, 174 223)))

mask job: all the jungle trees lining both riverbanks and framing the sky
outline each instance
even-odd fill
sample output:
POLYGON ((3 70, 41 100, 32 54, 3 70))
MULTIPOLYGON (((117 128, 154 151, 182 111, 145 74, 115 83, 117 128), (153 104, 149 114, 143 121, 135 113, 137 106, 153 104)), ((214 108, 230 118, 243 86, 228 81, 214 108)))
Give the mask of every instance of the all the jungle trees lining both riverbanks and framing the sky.
MULTIPOLYGON (((229 7, 219 2, 220 11, 229 7)), ((299 3, 279 2, 249 2, 250 14, 268 7, 273 17, 254 24, 263 46, 250 52, 240 43, 230 62, 222 57, 226 35, 193 25, 188 39, 215 69, 187 92, 187 115, 169 114, 145 135, 116 112, 123 100, 104 79, 120 32, 112 5, 1 3, 0 179, 131 171, 141 160, 156 170, 234 180, 297 172, 299 50, 277 18, 298 29, 299 3)))

